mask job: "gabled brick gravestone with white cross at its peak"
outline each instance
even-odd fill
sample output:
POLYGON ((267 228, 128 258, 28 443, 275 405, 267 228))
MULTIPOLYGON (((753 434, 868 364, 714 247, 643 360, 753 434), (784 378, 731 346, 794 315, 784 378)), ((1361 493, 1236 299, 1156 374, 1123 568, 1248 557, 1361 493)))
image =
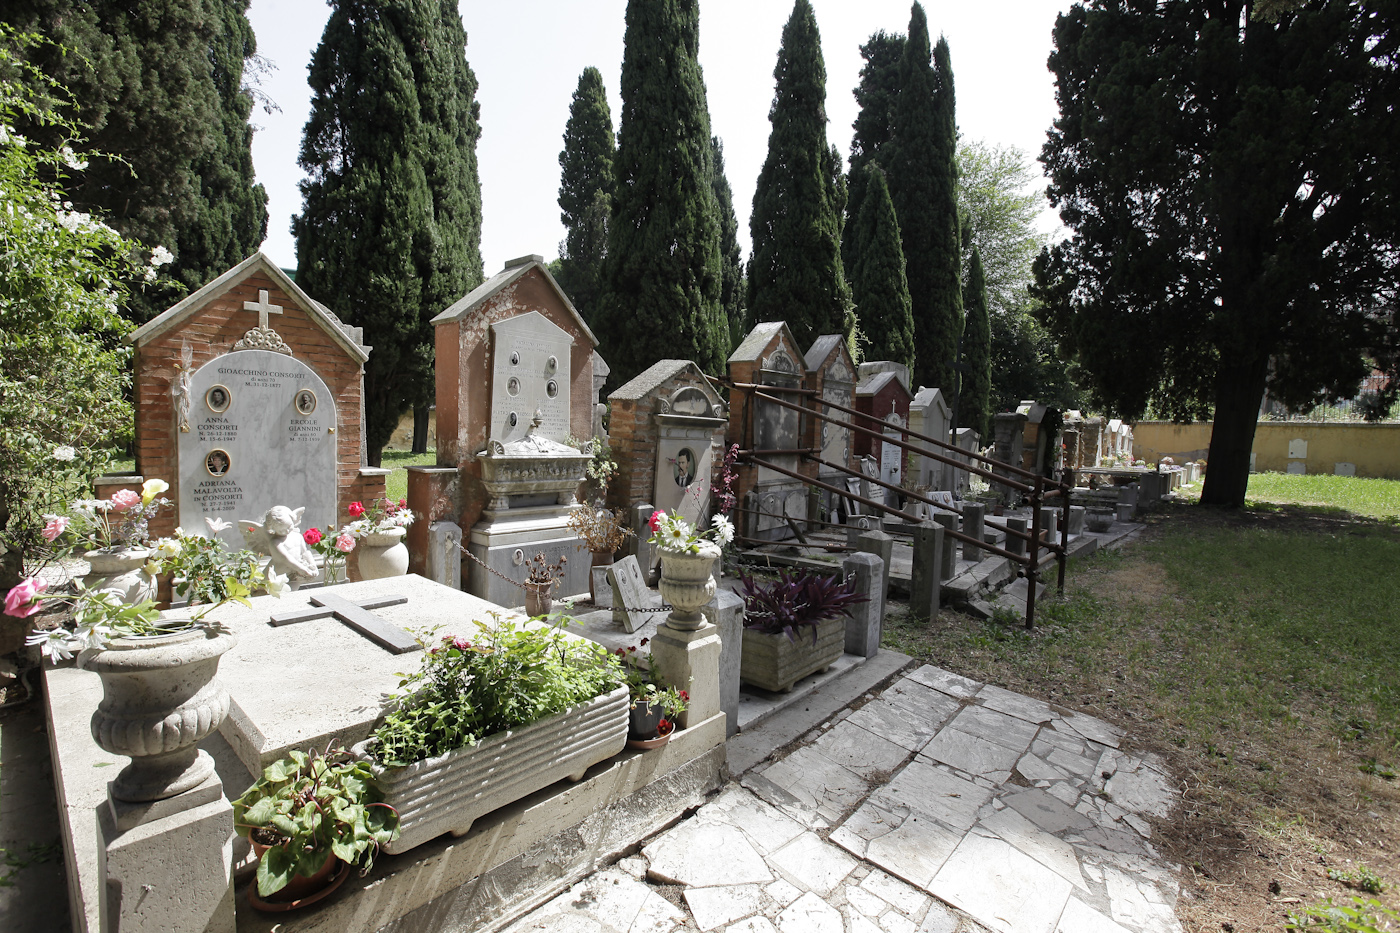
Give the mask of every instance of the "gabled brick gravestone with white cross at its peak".
MULTIPOLYGON (((343 524, 384 496, 386 469, 364 451, 361 329, 343 324, 255 254, 126 338, 136 346, 136 472, 171 485, 179 524, 235 527, 273 506, 305 507, 301 527, 343 524)), ((353 562, 351 562, 353 563, 353 562)))

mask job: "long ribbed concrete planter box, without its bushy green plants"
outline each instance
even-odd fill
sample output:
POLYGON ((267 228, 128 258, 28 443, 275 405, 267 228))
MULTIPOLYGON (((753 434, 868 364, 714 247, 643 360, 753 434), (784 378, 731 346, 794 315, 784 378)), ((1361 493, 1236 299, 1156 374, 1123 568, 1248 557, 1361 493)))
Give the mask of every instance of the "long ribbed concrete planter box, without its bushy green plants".
MULTIPOLYGON (((384 801, 399 811, 399 838, 384 848, 407 852, 444 832, 466 835, 479 817, 568 778, 627 744, 627 688, 521 728, 497 733, 403 768, 374 765, 384 801)), ((368 741, 354 747, 370 758, 368 741)))

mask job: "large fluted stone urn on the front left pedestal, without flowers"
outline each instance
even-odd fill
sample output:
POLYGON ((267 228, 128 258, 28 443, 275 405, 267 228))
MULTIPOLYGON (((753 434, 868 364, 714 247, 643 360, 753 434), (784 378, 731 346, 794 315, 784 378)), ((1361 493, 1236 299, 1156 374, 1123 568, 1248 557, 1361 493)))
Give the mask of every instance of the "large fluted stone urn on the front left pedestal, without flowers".
POLYGON ((190 622, 169 635, 112 639, 81 656, 81 667, 102 678, 92 738, 132 758, 113 785, 119 800, 174 797, 214 773, 197 742, 228 716, 228 691, 216 674, 235 644, 235 636, 190 622))

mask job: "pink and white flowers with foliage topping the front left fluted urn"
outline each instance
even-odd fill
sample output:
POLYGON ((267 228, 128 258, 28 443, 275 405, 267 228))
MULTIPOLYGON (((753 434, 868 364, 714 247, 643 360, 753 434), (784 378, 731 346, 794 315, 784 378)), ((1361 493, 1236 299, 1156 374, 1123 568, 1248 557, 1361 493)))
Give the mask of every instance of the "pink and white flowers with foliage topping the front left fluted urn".
POLYGON ((101 650, 112 639, 140 635, 168 635, 169 632, 202 625, 206 615, 225 602, 248 605, 248 597, 262 587, 270 595, 287 593, 287 579, 276 570, 259 567, 260 559, 252 551, 230 552, 217 535, 232 525, 221 518, 204 518, 213 538, 175 530, 174 538, 153 544, 147 572, 174 574, 178 595, 189 600, 189 616, 161 619, 154 600, 127 604, 113 593, 91 590, 81 580, 74 581, 74 593, 48 593, 48 581, 27 577, 6 595, 6 615, 27 618, 39 611, 45 600, 64 601, 73 611, 74 630, 59 628, 36 632, 28 644, 42 646, 55 663, 73 657, 84 649, 101 650))

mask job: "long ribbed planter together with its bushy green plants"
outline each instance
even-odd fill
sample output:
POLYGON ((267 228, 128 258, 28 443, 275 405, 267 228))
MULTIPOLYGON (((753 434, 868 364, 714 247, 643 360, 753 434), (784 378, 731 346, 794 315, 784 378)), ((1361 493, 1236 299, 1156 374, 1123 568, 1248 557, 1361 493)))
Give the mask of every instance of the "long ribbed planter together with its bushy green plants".
POLYGON ((612 758, 627 741, 617 658, 539 622, 493 616, 472 639, 420 636, 421 667, 354 752, 372 762, 406 852, 612 758))

